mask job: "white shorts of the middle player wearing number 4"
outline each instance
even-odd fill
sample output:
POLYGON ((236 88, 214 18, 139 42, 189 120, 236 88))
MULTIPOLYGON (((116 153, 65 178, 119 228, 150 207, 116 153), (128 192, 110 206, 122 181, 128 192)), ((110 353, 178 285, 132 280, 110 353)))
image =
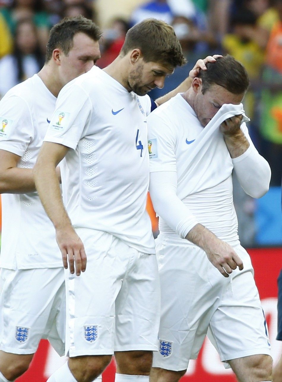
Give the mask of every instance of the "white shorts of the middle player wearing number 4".
POLYGON ((66 355, 157 350, 160 287, 157 260, 110 233, 77 228, 87 265, 66 275, 66 355))

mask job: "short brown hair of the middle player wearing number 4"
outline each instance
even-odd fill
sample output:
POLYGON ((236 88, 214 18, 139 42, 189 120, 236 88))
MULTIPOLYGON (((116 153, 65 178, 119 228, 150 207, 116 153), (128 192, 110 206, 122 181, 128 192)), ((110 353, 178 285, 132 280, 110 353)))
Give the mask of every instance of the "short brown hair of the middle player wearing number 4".
POLYGON ((180 42, 172 26, 162 20, 146 19, 128 30, 121 54, 140 49, 145 62, 170 64, 175 68, 186 63, 180 42))

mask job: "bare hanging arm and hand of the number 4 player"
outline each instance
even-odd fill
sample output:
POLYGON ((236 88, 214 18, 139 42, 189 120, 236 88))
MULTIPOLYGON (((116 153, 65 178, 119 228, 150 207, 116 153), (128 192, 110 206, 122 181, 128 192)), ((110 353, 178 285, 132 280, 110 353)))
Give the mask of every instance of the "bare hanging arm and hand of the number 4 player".
POLYGON ((63 265, 67 268, 69 263, 70 272, 73 274, 76 269, 79 276, 86 269, 86 254, 63 205, 56 175, 56 167, 67 151, 68 147, 61 144, 44 142, 34 166, 34 180, 44 209, 55 227, 63 265))

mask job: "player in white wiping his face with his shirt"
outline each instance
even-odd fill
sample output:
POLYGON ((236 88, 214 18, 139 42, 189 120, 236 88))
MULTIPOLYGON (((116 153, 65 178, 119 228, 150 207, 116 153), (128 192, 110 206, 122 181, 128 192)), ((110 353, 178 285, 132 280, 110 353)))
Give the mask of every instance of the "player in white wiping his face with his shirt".
POLYGON ((232 196, 233 170, 253 197, 267 192, 271 177, 244 122, 248 84, 239 62, 218 58, 148 117, 149 191, 160 216, 161 321, 152 382, 178 381, 208 329, 238 381, 271 380, 266 321, 232 196))

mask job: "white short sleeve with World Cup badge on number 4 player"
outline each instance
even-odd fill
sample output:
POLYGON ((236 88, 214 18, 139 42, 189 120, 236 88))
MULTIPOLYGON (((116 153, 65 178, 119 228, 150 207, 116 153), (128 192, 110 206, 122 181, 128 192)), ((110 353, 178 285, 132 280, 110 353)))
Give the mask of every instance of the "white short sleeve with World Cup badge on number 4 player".
POLYGON ((67 84, 58 95, 44 141, 75 149, 92 115, 89 95, 81 86, 67 84))

